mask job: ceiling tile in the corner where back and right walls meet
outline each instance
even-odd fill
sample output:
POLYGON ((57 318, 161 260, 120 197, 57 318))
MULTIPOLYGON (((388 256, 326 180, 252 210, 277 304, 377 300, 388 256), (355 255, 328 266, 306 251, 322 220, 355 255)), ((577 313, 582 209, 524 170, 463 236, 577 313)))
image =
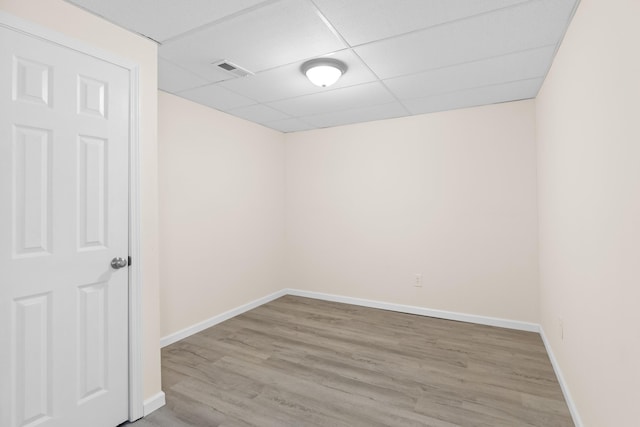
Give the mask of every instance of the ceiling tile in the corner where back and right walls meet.
POLYGON ((541 78, 505 83, 496 86, 461 90, 459 92, 415 98, 402 103, 413 114, 433 113, 436 111, 454 110, 457 108, 475 107, 478 105, 496 104, 534 98, 542 85, 541 78))

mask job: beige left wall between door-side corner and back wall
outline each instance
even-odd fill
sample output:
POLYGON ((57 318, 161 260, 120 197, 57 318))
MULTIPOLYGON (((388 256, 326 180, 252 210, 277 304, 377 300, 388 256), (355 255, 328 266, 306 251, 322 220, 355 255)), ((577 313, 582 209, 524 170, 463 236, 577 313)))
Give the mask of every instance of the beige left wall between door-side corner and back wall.
POLYGON ((282 134, 159 94, 162 336, 284 287, 282 134))

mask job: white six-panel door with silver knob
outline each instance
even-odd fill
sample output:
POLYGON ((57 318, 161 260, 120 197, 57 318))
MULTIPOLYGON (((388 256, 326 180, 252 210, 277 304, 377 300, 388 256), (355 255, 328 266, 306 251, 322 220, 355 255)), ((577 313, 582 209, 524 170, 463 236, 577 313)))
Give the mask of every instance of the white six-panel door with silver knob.
POLYGON ((0 426, 128 415, 129 71, 0 26, 0 426))

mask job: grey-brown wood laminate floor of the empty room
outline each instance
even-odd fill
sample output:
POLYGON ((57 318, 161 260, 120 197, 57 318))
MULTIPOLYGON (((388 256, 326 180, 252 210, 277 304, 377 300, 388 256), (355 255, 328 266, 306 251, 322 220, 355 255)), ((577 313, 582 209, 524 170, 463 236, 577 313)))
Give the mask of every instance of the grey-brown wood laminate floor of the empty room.
POLYGON ((573 426, 540 336, 285 296, 162 350, 133 427, 573 426))

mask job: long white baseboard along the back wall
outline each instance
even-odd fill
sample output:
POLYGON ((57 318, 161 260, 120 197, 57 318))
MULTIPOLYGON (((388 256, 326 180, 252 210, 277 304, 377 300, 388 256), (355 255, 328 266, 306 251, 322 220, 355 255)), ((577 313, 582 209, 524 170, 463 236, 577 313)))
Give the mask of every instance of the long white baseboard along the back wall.
POLYGON ((420 316, 437 317, 439 319, 457 320, 459 322, 477 323, 480 325, 498 326, 500 328, 517 329, 519 331, 539 332, 537 323, 521 322, 519 320, 501 319, 498 317, 479 316, 475 314, 457 313, 455 311, 435 310, 431 308, 412 305, 393 304, 382 301, 362 298, 344 297, 341 295, 324 294, 321 292, 302 291, 299 289, 287 289, 288 295, 315 298, 325 301, 342 302, 345 304, 360 305, 363 307, 379 308, 382 310, 398 311, 400 313, 417 314, 420 316))

